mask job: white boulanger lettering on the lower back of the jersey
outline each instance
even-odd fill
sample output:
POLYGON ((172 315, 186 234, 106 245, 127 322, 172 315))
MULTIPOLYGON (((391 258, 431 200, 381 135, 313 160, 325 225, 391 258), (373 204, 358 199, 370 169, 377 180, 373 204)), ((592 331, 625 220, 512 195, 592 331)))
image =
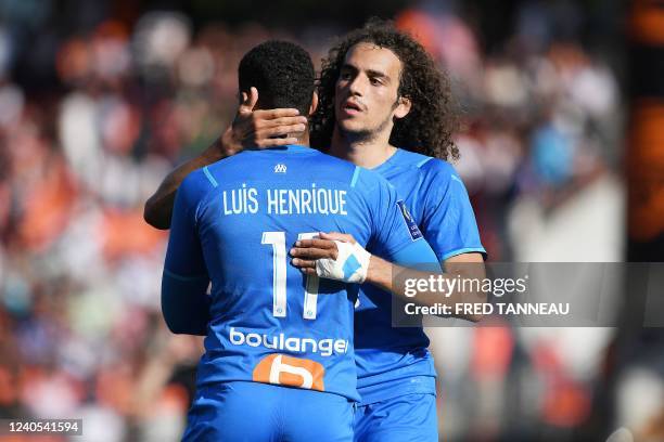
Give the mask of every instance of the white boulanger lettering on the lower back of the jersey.
POLYGON ((233 346, 248 346, 278 351, 291 351, 296 353, 318 353, 323 358, 343 355, 348 352, 348 340, 346 339, 314 339, 298 336, 265 335, 252 332, 243 332, 235 327, 230 328, 230 342, 233 346))

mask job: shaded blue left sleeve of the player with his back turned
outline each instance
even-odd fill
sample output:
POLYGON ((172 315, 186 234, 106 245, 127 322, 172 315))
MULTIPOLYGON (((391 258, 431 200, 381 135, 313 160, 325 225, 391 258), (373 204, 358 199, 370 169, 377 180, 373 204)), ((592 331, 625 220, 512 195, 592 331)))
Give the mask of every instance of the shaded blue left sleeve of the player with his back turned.
POLYGON ((196 233, 196 209, 204 184, 188 177, 176 194, 173 209, 162 276, 162 313, 176 334, 206 335, 209 322, 209 276, 196 233))

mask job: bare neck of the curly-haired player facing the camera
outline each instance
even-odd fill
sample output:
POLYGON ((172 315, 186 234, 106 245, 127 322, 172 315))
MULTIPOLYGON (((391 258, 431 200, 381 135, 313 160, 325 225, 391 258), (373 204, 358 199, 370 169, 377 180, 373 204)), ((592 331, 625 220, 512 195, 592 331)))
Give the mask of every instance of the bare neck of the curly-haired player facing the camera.
POLYGON ((367 140, 349 140, 339 128, 332 132, 330 155, 353 162, 356 166, 373 169, 385 162, 396 147, 390 144, 390 132, 367 140))

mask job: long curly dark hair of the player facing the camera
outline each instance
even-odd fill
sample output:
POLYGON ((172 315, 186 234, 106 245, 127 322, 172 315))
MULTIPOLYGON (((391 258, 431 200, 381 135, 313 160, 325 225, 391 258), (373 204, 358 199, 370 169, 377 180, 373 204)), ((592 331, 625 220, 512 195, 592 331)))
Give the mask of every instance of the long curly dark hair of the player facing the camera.
POLYGON ((327 150, 334 130, 334 90, 346 53, 355 44, 368 42, 394 52, 401 61, 399 96, 410 100, 410 112, 397 119, 390 144, 442 159, 458 159, 452 141, 457 118, 452 110, 447 77, 413 37, 403 32, 391 21, 371 18, 339 41, 322 60, 318 79, 318 109, 311 116, 311 145, 327 150))

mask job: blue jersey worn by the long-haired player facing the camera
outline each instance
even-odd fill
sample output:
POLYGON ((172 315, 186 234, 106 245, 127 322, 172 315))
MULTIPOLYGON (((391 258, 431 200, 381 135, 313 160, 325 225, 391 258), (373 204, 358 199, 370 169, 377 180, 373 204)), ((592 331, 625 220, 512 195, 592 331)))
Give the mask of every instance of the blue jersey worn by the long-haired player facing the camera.
MULTIPOLYGON (((485 253, 468 192, 446 161, 397 150, 373 171, 404 197, 438 260, 465 252, 485 253)), ((363 284, 356 309, 355 349, 362 403, 405 393, 435 393, 433 358, 422 327, 392 327, 392 303, 363 284)))

